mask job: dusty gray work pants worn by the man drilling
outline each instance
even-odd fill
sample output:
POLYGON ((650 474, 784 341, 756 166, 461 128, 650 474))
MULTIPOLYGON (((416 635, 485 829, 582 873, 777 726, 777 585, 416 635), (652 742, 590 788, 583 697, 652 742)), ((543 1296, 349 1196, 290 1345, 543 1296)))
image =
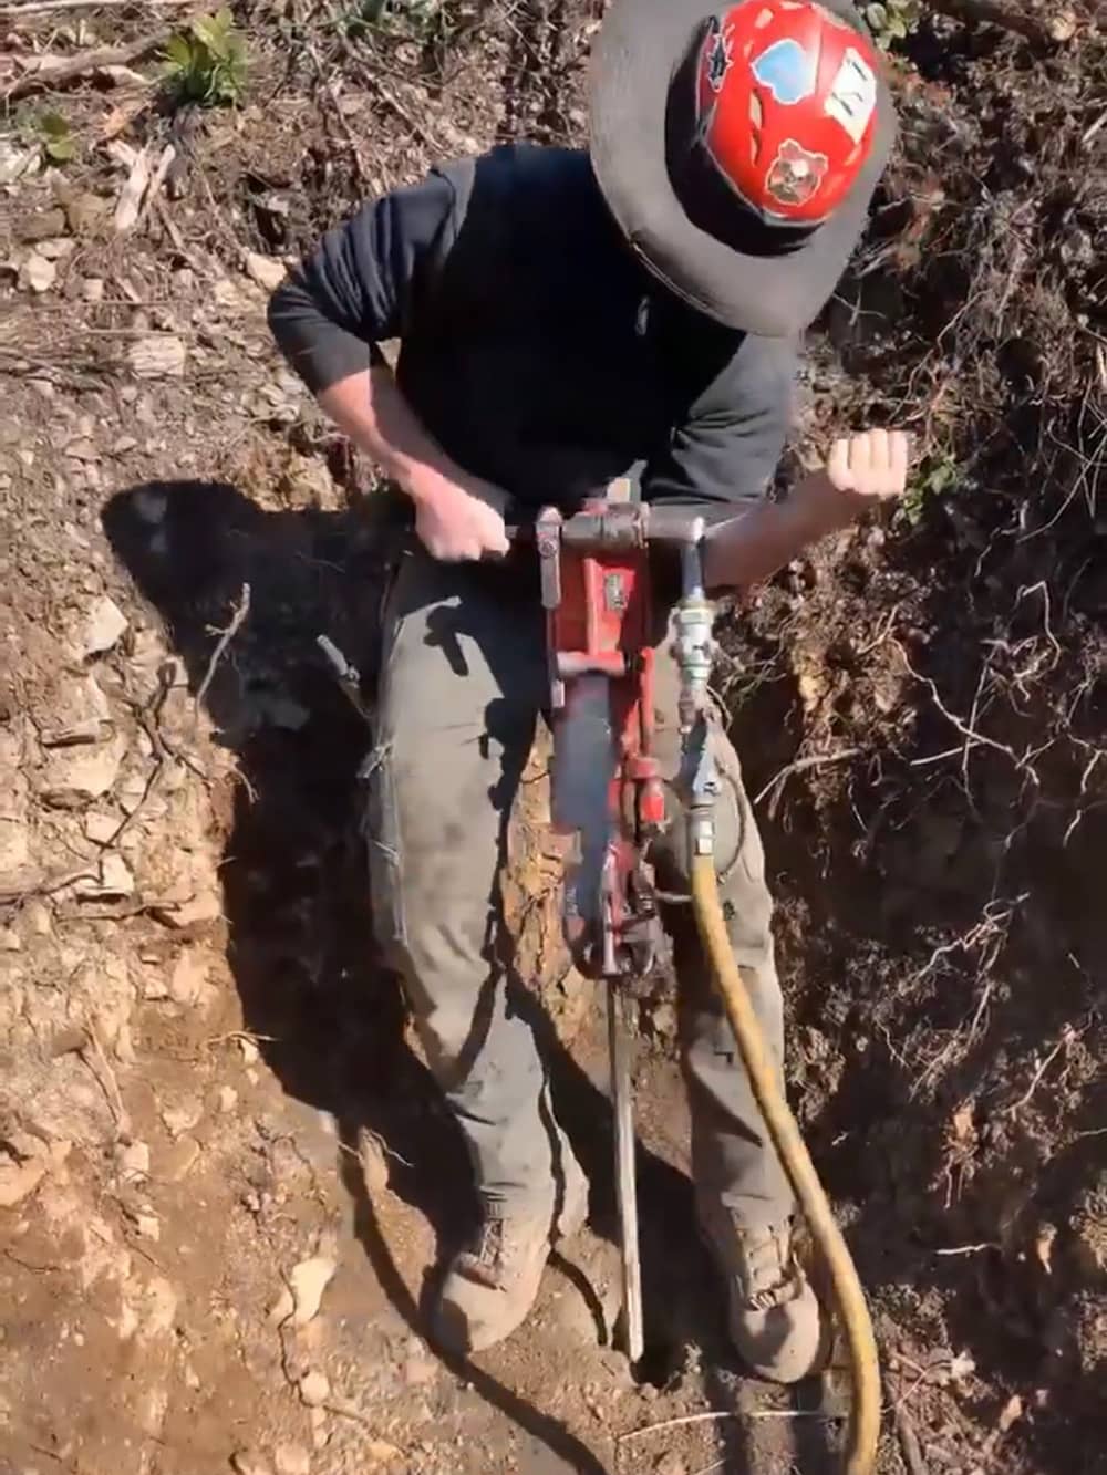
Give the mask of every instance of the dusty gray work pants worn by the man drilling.
MULTIPOLYGON (((403 978, 486 1204, 545 1211, 558 1134, 546 1071, 512 1007, 496 947, 508 817, 548 701, 537 583, 407 552, 384 640, 376 743, 363 773, 378 943, 403 978)), ((666 645, 657 658, 657 752, 675 774, 677 676, 666 645)), ((765 857, 737 755, 722 732, 716 742, 729 779, 716 822, 731 943, 779 1059, 765 857)), ((673 826, 673 844, 658 857, 660 875, 677 885, 680 829, 673 826)), ((673 909, 670 932, 697 1189, 751 1227, 779 1224, 793 1195, 737 1059, 691 907, 673 909)))

